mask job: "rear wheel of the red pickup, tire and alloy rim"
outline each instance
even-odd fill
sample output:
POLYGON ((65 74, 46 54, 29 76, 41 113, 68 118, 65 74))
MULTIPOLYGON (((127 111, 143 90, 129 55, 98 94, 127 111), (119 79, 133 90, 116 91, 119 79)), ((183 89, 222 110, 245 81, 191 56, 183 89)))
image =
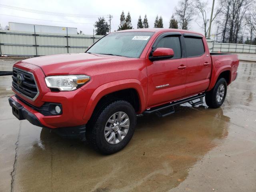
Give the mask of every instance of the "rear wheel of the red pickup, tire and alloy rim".
POLYGON ((220 78, 216 82, 214 88, 212 88, 212 90, 210 90, 209 92, 206 92, 206 95, 205 95, 206 104, 210 108, 218 108, 223 104, 226 98, 226 94, 227 94, 227 82, 224 78, 220 78))

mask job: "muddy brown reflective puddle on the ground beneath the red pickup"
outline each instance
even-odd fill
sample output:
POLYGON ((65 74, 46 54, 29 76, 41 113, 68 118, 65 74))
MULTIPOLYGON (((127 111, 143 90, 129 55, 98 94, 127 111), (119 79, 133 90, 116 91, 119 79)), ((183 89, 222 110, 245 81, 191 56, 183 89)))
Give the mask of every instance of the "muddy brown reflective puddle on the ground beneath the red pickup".
POLYGON ((38 138, 38 130, 31 135, 34 127, 27 124, 26 128, 22 126, 20 138, 28 135, 29 138, 20 141, 19 151, 24 153, 19 157, 33 162, 18 163, 21 174, 16 179, 23 183, 23 178, 29 178, 33 185, 24 183, 23 187, 30 191, 38 191, 51 182, 54 191, 81 190, 79 185, 61 184, 68 183, 70 178, 83 181, 92 191, 150 191, 160 189, 159 186, 161 190, 168 190, 170 186, 178 186, 189 168, 228 135, 226 120, 229 118, 223 116, 221 109, 214 110, 212 115, 218 118, 213 120, 208 115, 198 121, 202 112, 182 107, 169 118, 142 117, 132 142, 111 156, 97 154, 87 144, 64 140, 45 129, 38 138), (35 170, 38 177, 48 177, 44 184, 34 176, 35 170), (56 184, 54 180, 57 181, 60 175, 61 183, 56 184))

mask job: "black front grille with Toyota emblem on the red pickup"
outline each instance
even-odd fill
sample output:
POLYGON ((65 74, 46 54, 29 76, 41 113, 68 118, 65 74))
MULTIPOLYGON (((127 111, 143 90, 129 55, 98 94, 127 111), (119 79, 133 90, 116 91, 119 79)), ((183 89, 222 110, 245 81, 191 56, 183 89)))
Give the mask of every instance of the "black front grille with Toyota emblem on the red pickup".
POLYGON ((34 75, 18 68, 13 68, 12 87, 31 100, 35 100, 39 94, 34 75))

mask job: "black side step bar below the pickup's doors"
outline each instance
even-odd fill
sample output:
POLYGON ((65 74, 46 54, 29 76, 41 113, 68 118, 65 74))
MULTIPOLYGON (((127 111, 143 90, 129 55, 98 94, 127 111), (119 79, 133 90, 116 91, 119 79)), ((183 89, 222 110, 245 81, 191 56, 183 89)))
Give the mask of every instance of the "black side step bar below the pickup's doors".
POLYGON ((168 115, 173 114, 175 112, 174 111, 174 106, 184 104, 184 103, 187 103, 187 102, 192 106, 203 104, 204 103, 203 102, 203 97, 204 96, 205 96, 205 94, 198 94, 198 95, 195 95, 195 96, 192 96, 192 97, 189 97, 189 98, 185 98, 185 99, 174 101, 174 102, 171 102, 171 103, 167 103, 167 104, 164 104, 164 105, 161 105, 161 106, 153 107, 153 108, 150 108, 150 109, 144 111, 143 114, 156 113, 156 115, 159 116, 159 117, 165 117, 165 116, 168 116, 168 115), (200 101, 193 102, 196 99, 200 99, 200 101))

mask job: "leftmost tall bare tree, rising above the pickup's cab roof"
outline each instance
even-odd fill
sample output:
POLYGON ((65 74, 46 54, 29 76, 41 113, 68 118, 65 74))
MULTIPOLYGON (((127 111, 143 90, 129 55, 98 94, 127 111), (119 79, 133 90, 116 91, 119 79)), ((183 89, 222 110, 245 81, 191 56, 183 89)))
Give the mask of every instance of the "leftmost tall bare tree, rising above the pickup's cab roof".
POLYGON ((188 29, 189 22, 193 20, 194 7, 192 0, 180 0, 175 8, 175 15, 178 16, 180 28, 188 29))

